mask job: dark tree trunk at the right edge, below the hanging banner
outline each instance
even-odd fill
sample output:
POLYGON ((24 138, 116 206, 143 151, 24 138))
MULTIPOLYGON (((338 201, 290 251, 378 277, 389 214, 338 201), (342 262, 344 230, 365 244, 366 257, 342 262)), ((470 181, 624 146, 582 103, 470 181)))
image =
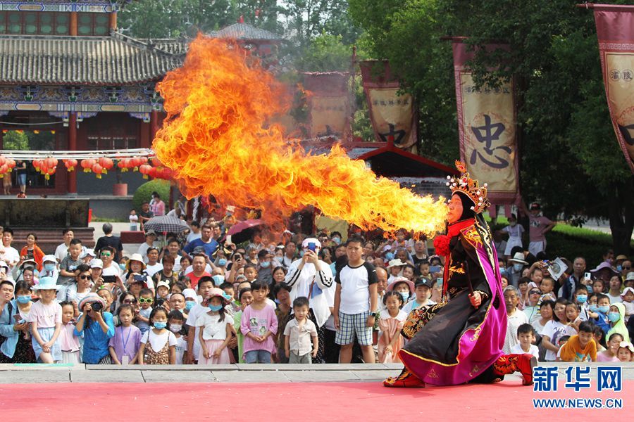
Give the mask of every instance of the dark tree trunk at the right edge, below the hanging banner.
POLYGON ((614 186, 609 195, 610 229, 614 254, 630 255, 630 243, 634 231, 634 177, 614 186))

